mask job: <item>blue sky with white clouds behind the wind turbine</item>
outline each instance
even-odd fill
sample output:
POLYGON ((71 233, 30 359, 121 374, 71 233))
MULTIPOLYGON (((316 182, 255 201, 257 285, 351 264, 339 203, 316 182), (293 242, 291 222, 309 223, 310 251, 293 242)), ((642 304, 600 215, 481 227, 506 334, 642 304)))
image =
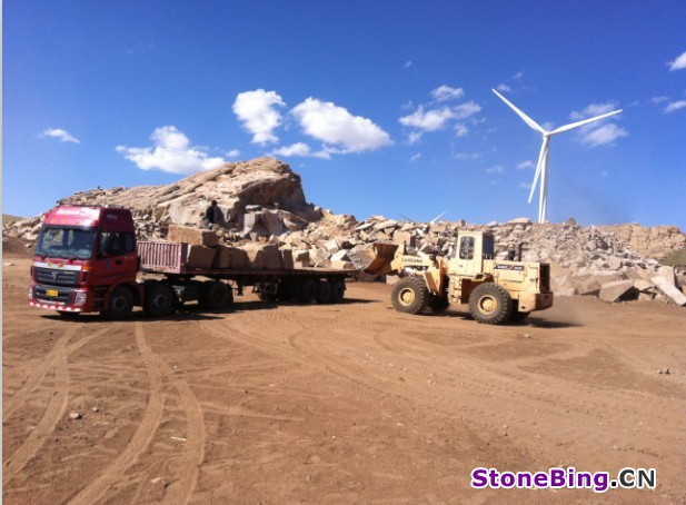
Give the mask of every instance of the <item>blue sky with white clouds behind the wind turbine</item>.
POLYGON ((3 2, 2 211, 271 155, 358 219, 686 229, 686 3, 3 2))

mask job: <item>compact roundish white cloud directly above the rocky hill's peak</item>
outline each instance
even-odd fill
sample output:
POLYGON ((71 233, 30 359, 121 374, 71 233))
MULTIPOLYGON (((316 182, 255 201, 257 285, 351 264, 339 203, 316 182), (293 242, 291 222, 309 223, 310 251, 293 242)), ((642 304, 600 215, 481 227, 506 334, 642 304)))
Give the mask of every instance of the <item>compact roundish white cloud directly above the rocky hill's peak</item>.
POLYGON ((242 121, 243 128, 252 133, 252 143, 265 145, 278 141, 274 130, 281 125, 277 107, 286 103, 276 91, 243 91, 236 96, 233 113, 242 121))

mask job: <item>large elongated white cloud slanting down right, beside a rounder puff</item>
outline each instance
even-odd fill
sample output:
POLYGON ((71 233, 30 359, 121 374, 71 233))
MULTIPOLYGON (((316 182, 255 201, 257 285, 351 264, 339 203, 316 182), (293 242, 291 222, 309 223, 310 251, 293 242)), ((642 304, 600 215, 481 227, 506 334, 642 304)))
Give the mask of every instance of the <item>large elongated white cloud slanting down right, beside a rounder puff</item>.
POLYGON ((391 143, 390 136, 370 119, 352 116, 332 102, 310 97, 296 106, 291 113, 307 135, 337 146, 326 148, 327 152, 361 152, 391 143))

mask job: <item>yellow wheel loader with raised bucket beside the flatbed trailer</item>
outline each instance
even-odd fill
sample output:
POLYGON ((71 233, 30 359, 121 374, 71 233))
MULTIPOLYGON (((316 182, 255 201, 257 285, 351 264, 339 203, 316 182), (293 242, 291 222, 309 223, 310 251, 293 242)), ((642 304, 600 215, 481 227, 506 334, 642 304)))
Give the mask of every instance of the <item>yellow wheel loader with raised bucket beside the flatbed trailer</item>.
POLYGON ((396 310, 444 311, 450 304, 469 304, 474 318, 488 325, 524 320, 553 306, 550 265, 497 260, 494 236, 460 231, 448 257, 415 251, 406 244, 374 245, 376 257, 365 269, 375 276, 397 275, 391 291, 396 310))

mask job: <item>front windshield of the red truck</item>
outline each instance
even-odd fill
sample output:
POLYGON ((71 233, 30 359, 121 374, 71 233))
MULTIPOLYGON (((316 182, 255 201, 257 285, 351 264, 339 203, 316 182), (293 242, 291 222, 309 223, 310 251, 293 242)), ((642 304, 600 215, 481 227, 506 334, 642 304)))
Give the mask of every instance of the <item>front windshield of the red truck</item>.
POLYGON ((36 255, 64 259, 90 259, 96 228, 43 226, 36 242, 36 255))

